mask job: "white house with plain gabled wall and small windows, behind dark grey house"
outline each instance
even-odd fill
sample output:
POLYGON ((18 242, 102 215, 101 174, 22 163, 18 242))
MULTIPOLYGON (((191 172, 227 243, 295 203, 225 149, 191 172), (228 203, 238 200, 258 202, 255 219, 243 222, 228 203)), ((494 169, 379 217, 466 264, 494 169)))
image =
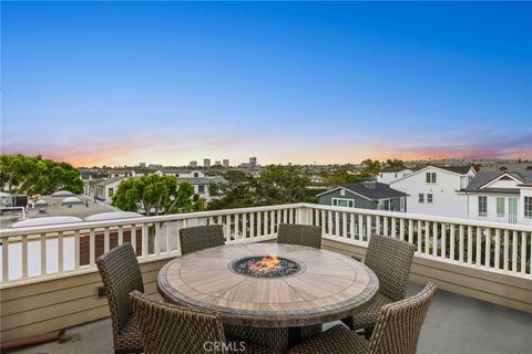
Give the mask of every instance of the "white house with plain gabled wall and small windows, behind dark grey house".
POLYGON ((470 166, 427 166, 390 183, 408 195, 408 212, 468 218, 466 189, 475 171, 470 166))

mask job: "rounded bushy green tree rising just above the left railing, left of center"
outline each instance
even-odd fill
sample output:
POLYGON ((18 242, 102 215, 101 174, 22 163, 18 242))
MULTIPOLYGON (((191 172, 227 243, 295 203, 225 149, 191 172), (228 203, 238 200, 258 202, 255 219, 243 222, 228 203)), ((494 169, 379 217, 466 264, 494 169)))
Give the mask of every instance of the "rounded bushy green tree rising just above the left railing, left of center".
POLYGON ((145 216, 198 211, 203 200, 190 183, 155 174, 124 179, 113 196, 113 206, 145 216))

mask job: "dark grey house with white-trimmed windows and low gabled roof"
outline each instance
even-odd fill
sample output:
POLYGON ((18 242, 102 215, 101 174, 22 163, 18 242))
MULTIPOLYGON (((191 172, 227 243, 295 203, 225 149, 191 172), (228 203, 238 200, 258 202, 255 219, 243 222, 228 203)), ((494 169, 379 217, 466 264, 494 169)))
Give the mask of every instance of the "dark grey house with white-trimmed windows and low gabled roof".
POLYGON ((378 181, 336 187, 317 195, 326 206, 407 211, 408 195, 378 181))

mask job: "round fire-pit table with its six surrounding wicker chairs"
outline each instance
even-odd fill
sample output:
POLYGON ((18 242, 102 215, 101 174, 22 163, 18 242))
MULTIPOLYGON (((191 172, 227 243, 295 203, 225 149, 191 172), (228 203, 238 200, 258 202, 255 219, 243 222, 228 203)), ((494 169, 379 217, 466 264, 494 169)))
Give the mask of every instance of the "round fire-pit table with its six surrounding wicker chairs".
POLYGON ((164 300, 144 294, 130 243, 96 260, 115 353, 416 353, 438 289, 407 299, 415 246, 387 236, 364 264, 306 225, 280 223, 277 243, 225 246, 219 225, 183 228, 180 242, 158 274, 164 300))

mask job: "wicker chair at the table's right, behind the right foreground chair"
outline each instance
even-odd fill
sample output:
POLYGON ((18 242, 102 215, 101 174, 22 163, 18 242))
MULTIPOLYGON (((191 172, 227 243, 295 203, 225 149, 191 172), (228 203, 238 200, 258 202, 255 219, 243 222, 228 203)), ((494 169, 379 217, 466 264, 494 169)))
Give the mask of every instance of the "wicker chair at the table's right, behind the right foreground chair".
POLYGON ((370 238, 365 263, 379 279, 379 292, 355 316, 341 320, 347 326, 354 331, 365 329, 370 335, 382 306, 407 296, 415 251, 415 244, 392 237, 375 235, 370 238))

